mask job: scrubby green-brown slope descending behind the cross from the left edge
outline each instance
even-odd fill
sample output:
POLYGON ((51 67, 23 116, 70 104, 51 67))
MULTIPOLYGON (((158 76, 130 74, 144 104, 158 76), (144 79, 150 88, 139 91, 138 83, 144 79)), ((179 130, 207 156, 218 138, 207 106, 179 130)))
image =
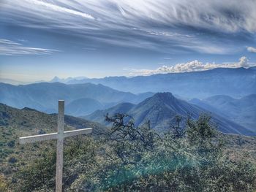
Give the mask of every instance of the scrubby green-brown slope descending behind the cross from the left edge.
MULTIPOLYGON (((101 134, 105 131, 105 127, 99 123, 93 123, 89 120, 74 118, 65 115, 65 130, 72 130, 76 128, 93 128, 93 135, 101 134)), ((15 161, 20 159, 20 155, 32 158, 37 153, 31 153, 31 147, 36 148, 50 147, 55 145, 55 142, 40 142, 32 145, 20 146, 18 144, 18 137, 24 137, 34 134, 53 133, 57 131, 57 115, 48 115, 30 108, 23 108, 22 110, 9 107, 5 104, 0 104, 0 173, 11 175, 15 172, 17 164, 10 163, 10 158, 14 157, 15 161)))

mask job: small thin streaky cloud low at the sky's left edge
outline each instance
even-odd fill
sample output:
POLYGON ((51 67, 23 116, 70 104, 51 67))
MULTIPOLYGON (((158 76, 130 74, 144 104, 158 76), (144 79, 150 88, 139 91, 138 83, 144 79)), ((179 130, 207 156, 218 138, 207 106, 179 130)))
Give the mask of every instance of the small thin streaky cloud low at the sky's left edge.
POLYGON ((59 50, 26 47, 18 42, 0 39, 0 55, 48 55, 59 50))

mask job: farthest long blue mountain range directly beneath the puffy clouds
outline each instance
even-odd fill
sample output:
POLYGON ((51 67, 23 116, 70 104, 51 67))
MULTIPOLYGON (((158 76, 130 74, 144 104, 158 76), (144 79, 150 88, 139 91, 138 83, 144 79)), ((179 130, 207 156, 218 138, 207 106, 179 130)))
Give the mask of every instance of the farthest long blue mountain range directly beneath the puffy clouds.
POLYGON ((132 93, 171 92, 186 98, 203 99, 214 95, 229 95, 233 97, 246 96, 255 93, 255 67, 217 68, 203 72, 184 72, 153 74, 136 77, 105 77, 72 79, 67 84, 101 83, 119 91, 132 93))

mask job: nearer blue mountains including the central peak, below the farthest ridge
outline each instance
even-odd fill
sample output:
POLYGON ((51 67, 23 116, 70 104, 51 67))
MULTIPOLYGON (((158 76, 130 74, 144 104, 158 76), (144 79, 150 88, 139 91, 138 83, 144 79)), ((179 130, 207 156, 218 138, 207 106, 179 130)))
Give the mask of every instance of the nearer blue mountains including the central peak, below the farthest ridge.
MULTIPOLYGON (((254 82, 252 81, 251 84, 254 82)), ((152 86, 154 86, 153 82, 152 86)), ((140 87, 143 88, 143 85, 140 87)), ((255 131, 256 94, 249 94, 240 99, 225 95, 192 99, 188 100, 190 105, 184 101, 187 97, 173 96, 173 94, 164 96, 165 99, 161 100, 154 94, 153 92, 134 94, 117 91, 105 85, 95 85, 90 82, 81 84, 39 82, 29 85, 0 83, 0 102, 19 109, 29 107, 41 112, 53 113, 57 109, 56 101, 64 99, 67 115, 86 116, 90 120, 105 123, 103 116, 107 112, 110 114, 124 112, 135 118, 136 125, 151 120, 151 125, 159 130, 164 130, 170 121, 174 120, 175 114, 183 116, 190 114, 197 118, 202 112, 211 112, 218 123, 222 121, 220 125, 225 124, 220 126, 224 131, 225 128, 233 130, 233 127, 238 125, 255 131), (170 102, 171 98, 175 99, 170 102), (179 108, 173 108, 176 105, 179 108)))

